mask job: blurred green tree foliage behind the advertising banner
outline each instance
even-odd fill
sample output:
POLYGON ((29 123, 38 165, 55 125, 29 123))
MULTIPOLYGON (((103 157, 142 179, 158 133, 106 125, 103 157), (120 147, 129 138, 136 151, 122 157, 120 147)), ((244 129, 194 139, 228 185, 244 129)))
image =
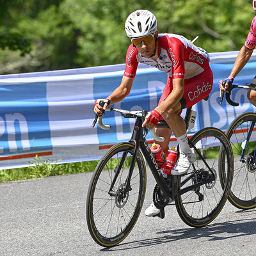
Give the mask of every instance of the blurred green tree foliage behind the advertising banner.
POLYGON ((0 74, 124 63, 124 30, 137 9, 153 12, 159 33, 176 33, 208 52, 241 49, 252 0, 0 0, 0 74), (20 56, 21 55, 21 56, 20 56))

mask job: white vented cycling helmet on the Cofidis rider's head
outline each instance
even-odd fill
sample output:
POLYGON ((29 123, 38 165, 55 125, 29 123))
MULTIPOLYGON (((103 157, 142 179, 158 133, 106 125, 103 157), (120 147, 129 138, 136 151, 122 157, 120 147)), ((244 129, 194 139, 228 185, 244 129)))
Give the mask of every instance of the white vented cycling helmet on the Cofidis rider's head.
POLYGON ((146 36, 156 31, 157 19, 152 12, 147 10, 132 12, 125 21, 125 32, 130 38, 146 36))

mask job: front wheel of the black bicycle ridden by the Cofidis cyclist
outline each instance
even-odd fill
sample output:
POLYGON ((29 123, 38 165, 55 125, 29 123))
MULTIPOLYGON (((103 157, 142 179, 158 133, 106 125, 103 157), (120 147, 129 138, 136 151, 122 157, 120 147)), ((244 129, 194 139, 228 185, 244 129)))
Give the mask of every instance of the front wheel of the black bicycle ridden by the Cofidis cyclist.
POLYGON ((135 146, 122 142, 109 149, 100 159, 92 175, 86 199, 86 221, 94 241, 100 246, 111 247, 120 243, 131 232, 145 198, 146 167, 139 151, 132 172, 128 193, 122 196, 135 146), (109 195, 110 184, 120 165, 123 154, 127 154, 109 195))

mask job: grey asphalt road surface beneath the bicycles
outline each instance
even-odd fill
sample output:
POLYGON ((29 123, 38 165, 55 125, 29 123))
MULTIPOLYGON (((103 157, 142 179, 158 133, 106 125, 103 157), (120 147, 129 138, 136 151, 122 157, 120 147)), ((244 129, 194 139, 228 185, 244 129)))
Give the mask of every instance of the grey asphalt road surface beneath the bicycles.
POLYGON ((256 209, 240 211, 228 201, 204 228, 180 220, 175 206, 149 218, 154 182, 134 229, 113 248, 96 244, 87 229, 86 193, 92 173, 0 183, 0 255, 255 255, 256 209))

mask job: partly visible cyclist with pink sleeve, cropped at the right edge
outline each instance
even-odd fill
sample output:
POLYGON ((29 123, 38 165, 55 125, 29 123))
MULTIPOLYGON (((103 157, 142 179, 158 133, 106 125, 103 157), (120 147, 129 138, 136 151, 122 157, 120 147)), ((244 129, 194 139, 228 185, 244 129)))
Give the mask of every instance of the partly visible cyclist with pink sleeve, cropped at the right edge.
MULTIPOLYGON (((252 1, 253 10, 256 11, 256 0, 252 1)), ((256 12, 255 12, 256 15, 256 12)), ((234 66, 231 70, 230 75, 223 80, 219 81, 220 90, 224 92, 228 92, 226 89, 228 86, 232 85, 235 77, 239 74, 239 72, 243 69, 244 65, 250 60, 253 50, 256 47, 256 16, 252 20, 252 24, 250 27, 250 32, 244 42, 243 47, 239 51, 234 66), (225 88, 223 87, 222 83, 225 81, 225 88)), ((252 83, 256 84, 256 76, 253 78, 252 83)), ((247 93, 248 100, 256 106, 256 91, 248 90, 247 93)))

